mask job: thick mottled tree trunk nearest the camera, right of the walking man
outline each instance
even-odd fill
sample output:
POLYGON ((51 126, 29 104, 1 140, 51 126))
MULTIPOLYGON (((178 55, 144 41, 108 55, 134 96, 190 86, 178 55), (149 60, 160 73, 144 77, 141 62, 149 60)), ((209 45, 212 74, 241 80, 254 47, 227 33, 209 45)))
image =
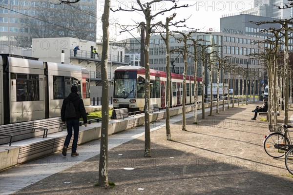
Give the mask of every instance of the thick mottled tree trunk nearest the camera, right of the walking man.
POLYGON ((99 163, 99 186, 107 188, 108 184, 108 124, 109 124, 109 99, 108 99, 108 48, 109 48, 109 15, 110 0, 105 0, 103 23, 103 49, 101 59, 102 74, 102 127, 101 127, 101 147, 99 163))

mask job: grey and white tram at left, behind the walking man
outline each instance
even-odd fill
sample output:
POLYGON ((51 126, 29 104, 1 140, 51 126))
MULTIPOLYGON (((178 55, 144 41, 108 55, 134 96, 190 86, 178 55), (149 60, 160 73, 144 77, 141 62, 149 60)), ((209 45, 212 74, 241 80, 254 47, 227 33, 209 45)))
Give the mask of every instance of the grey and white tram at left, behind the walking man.
POLYGON ((0 124, 59 117, 72 85, 78 86, 84 105, 90 105, 85 68, 8 54, 0 57, 0 124))

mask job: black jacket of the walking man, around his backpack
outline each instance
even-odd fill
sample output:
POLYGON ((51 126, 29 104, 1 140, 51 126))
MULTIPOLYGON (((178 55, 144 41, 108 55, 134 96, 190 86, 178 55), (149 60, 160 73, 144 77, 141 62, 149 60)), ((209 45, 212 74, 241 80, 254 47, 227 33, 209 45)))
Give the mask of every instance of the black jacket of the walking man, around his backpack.
POLYGON ((63 99, 63 104, 62 104, 62 108, 61 108, 62 121, 63 122, 66 121, 65 108, 66 108, 66 105, 69 101, 72 101, 75 106, 76 116, 77 116, 76 118, 83 117, 84 123, 87 123, 86 112, 85 112, 85 108, 84 108, 84 101, 82 98, 80 98, 78 96, 77 93, 70 93, 67 96, 67 98, 63 99))

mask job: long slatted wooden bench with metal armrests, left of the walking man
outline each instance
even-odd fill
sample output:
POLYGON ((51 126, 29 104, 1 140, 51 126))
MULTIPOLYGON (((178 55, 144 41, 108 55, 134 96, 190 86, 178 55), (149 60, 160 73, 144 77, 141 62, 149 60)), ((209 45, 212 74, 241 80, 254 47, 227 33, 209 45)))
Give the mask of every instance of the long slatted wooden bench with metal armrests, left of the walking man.
POLYGON ((0 145, 62 131, 61 117, 0 125, 0 145))

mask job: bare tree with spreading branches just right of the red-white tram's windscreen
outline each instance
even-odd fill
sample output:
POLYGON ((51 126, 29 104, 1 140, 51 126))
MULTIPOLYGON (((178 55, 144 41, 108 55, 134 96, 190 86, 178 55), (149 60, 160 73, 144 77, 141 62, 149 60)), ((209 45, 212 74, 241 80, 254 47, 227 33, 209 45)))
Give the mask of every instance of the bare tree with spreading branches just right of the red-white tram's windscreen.
MULTIPOLYGON (((150 76, 149 76, 149 39, 150 39, 150 34, 152 29, 154 29, 156 26, 159 25, 159 22, 151 24, 151 21, 156 18, 158 15, 163 15, 166 12, 169 12, 174 9, 178 9, 181 7, 188 7, 188 5, 182 5, 182 6, 177 6, 175 3, 173 6, 170 8, 166 8, 165 10, 158 11, 157 13, 152 14, 152 6, 155 5, 156 3, 159 2, 172 2, 175 3, 176 0, 152 0, 149 2, 141 2, 140 0, 137 0, 139 8, 134 8, 133 6, 131 7, 130 10, 127 9, 120 9, 118 10, 112 10, 112 11, 128 11, 128 12, 142 12, 145 16, 146 23, 144 25, 146 29, 146 43, 144 47, 144 54, 145 54, 145 69, 146 69, 146 95, 145 95, 145 157, 150 157, 150 121, 149 121, 149 99, 150 99, 150 92, 149 92, 149 81, 150 81, 150 76)), ((143 24, 143 23, 141 23, 143 24)))

